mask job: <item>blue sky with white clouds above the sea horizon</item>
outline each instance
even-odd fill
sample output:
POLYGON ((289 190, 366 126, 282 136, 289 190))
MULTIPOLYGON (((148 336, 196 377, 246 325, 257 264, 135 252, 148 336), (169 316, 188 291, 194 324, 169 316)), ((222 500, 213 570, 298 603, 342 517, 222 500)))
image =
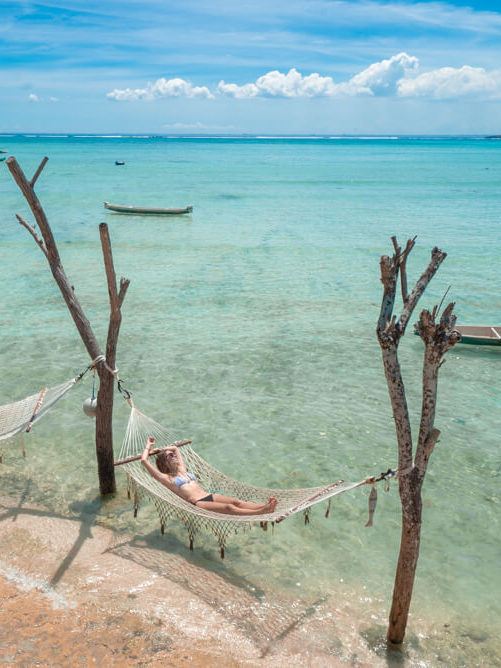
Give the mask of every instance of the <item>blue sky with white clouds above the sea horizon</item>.
POLYGON ((501 133, 501 0, 2 0, 0 132, 501 133))

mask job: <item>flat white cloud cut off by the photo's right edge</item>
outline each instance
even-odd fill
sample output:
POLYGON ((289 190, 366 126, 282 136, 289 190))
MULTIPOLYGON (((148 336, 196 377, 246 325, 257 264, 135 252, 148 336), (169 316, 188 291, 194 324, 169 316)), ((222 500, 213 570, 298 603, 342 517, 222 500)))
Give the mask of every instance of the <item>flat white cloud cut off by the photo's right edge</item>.
POLYGON ((501 96, 501 71, 486 72, 482 67, 441 67, 424 72, 414 79, 398 82, 401 97, 432 97, 439 99, 482 95, 501 96))

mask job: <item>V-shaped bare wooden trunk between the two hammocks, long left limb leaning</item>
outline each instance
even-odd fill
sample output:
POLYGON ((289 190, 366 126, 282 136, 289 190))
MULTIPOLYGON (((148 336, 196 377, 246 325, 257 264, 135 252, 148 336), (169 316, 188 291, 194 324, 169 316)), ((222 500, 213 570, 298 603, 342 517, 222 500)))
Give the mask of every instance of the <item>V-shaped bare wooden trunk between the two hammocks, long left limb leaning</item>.
MULTIPOLYGON (((46 162, 47 158, 44 158, 31 181, 28 181, 17 160, 14 157, 7 158, 7 166, 30 206, 42 238, 38 236, 35 227, 29 225, 21 216, 17 215, 16 217, 19 223, 28 230, 47 258, 54 280, 63 295, 66 306, 68 307, 71 317, 80 334, 80 338, 82 339, 91 359, 95 360, 101 356, 101 349, 80 302, 76 298, 73 286, 70 284, 65 274, 52 230, 43 207, 40 204, 40 200, 34 191, 35 182, 40 176, 46 162)), ((97 372, 99 374, 99 393, 96 413, 96 456, 100 492, 101 494, 111 494, 116 491, 116 483, 115 469, 113 466, 112 431, 114 375, 110 372, 110 369, 113 370, 115 368, 116 348, 122 321, 121 306, 129 286, 129 281, 122 278, 120 280, 120 290, 117 290, 113 255, 111 252, 111 243, 107 225, 102 223, 99 226, 99 231, 108 282, 110 322, 106 343, 106 362, 97 366, 97 372)))

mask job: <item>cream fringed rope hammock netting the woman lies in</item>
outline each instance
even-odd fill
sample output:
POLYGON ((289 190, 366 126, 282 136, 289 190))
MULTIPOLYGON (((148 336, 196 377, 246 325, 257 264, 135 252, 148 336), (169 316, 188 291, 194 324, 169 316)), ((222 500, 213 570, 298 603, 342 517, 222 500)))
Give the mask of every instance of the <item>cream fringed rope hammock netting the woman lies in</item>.
MULTIPOLYGON (((132 407, 127 431, 120 451, 120 459, 140 455, 145 447, 148 436, 154 436, 157 446, 174 443, 176 436, 165 429, 158 422, 132 407)), ((307 512, 314 504, 329 500, 343 492, 367 483, 343 482, 342 480, 323 487, 307 487, 302 489, 275 489, 255 487, 238 480, 234 480, 218 471, 206 462, 195 450, 183 446, 181 453, 186 469, 194 473, 200 485, 207 493, 224 494, 244 501, 266 503, 270 496, 277 498, 278 503, 273 513, 263 515, 223 515, 199 508, 185 501, 170 491, 162 483, 155 480, 139 460, 124 464, 128 477, 129 493, 134 496, 134 513, 137 514, 142 498, 148 497, 154 504, 160 518, 162 533, 168 520, 181 521, 188 530, 190 548, 193 548, 195 536, 200 530, 213 533, 224 556, 224 547, 230 534, 250 528, 252 524, 264 522, 280 522, 299 512, 307 512)))

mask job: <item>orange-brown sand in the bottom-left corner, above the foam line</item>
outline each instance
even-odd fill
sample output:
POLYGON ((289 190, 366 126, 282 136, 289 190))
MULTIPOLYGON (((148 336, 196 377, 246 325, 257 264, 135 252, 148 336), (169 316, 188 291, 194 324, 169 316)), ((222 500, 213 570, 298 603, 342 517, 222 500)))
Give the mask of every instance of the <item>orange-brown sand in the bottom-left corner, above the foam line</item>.
POLYGON ((0 579, 0 663, 8 666, 193 666, 236 661, 191 648, 173 652, 158 625, 125 613, 110 624, 105 611, 82 605, 54 609, 37 591, 0 579))

